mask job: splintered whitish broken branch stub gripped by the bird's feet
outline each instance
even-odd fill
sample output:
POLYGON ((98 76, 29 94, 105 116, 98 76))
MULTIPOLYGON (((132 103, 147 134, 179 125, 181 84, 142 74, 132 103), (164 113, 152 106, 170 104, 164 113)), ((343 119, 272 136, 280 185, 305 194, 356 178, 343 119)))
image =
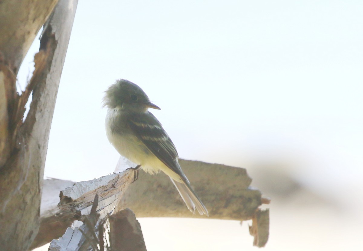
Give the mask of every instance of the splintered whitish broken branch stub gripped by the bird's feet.
MULTIPOLYGON (((52 245, 54 248, 68 247, 64 243, 67 243, 69 238, 72 239, 72 236, 78 236, 79 233, 78 230, 72 229, 68 229, 65 235, 64 232, 74 219, 81 219, 82 216, 90 213, 95 195, 98 194, 97 214, 105 217, 115 209, 119 199, 133 181, 133 170, 75 184, 67 180, 44 180, 41 225, 31 248, 40 247, 62 235, 62 240, 52 245), (55 226, 57 229, 54 228, 55 226)), ((73 244, 74 242, 75 240, 72 239, 73 244)))

